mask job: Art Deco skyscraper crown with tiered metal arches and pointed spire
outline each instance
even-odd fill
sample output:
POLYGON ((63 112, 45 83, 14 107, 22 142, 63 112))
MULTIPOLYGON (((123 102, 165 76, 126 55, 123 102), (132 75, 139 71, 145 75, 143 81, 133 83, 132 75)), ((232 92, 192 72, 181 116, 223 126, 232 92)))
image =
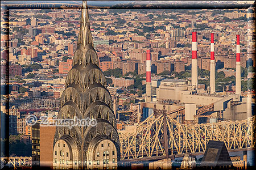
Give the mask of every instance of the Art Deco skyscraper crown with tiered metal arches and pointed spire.
POLYGON ((90 32, 87 3, 82 3, 80 32, 72 69, 65 80, 58 119, 97 121, 96 126, 56 126, 53 169, 117 169, 119 137, 113 101, 99 68, 90 32))

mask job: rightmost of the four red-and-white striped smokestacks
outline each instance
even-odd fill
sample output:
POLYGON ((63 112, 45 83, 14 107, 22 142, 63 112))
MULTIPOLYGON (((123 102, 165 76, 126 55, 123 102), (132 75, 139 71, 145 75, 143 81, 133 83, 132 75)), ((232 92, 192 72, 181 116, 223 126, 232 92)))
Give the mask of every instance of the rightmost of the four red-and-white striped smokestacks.
POLYGON ((237 35, 236 94, 241 95, 240 35, 237 35))

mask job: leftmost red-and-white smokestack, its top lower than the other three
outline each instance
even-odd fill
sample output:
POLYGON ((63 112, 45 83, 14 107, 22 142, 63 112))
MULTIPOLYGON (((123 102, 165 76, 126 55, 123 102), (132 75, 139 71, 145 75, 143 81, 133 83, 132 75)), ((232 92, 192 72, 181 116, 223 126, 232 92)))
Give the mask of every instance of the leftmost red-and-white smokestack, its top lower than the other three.
POLYGON ((150 49, 147 49, 146 56, 146 101, 152 101, 151 97, 151 55, 150 49))

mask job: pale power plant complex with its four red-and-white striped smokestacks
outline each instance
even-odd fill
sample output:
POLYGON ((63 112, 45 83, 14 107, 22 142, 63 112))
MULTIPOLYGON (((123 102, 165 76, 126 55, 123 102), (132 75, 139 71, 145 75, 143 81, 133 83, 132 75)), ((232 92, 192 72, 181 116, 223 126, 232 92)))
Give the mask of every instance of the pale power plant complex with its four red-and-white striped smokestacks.
MULTIPOLYGON (((216 92, 214 33, 210 33, 210 91, 198 84, 197 32, 192 32, 191 84, 182 79, 152 79, 150 50, 147 50, 146 102, 141 103, 140 117, 147 118, 156 109, 166 107, 167 113, 180 123, 201 124, 222 120, 244 120, 251 113, 251 98, 241 97, 240 35, 237 35, 236 93, 216 92), (152 86, 152 87, 151 87, 152 86), (156 91, 155 96, 152 89, 156 91), (153 101, 153 102, 151 102, 153 101)), ((209 90, 209 89, 208 89, 209 90)), ((142 119, 143 120, 143 119, 142 119)))

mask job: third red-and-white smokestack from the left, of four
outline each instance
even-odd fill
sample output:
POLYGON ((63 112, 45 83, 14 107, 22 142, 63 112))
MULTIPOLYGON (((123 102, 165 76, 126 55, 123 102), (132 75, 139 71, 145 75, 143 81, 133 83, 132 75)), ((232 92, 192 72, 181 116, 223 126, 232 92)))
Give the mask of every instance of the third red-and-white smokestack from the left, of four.
POLYGON ((210 93, 215 93, 214 33, 210 33, 210 93))

